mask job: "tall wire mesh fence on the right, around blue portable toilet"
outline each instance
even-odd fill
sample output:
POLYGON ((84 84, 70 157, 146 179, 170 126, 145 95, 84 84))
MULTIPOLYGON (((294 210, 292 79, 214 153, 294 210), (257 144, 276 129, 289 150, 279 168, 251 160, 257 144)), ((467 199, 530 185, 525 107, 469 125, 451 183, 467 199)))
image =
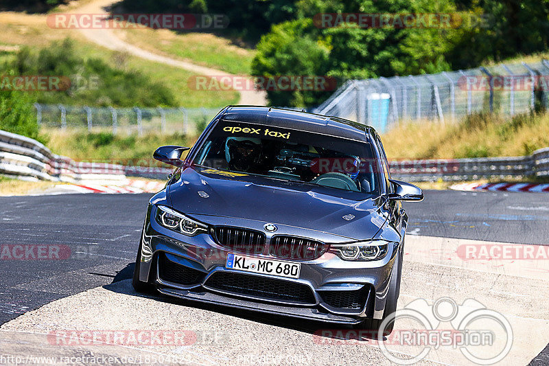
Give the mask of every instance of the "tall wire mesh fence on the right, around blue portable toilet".
POLYGON ((549 61, 430 75, 349 80, 312 111, 380 132, 399 121, 441 123, 482 111, 516 115, 549 104, 549 61))

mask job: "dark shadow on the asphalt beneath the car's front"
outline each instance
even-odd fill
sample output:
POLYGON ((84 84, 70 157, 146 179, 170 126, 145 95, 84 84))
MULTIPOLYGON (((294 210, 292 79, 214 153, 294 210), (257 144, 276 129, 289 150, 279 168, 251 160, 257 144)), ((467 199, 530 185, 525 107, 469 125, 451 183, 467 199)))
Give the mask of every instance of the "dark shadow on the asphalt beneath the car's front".
POLYGON ((231 317, 239 317, 242 319, 247 319, 250 321, 256 321, 257 323, 263 323, 266 325, 273 325, 281 328, 287 328, 292 330, 299 330, 301 332, 307 332, 309 334, 316 334, 317 336, 323 336, 331 339, 351 339, 358 341, 369 341, 371 339, 376 339, 372 334, 373 332, 349 332, 352 330, 350 325, 347 324, 338 324, 338 323, 325 323, 322 321, 313 321, 308 319, 297 319, 292 317, 284 317, 283 315, 276 314, 263 314, 261 312, 254 312, 250 310, 242 310, 236 308, 229 308, 225 306, 215 305, 215 304, 205 304, 199 301, 192 301, 187 299, 178 299, 177 297, 170 297, 160 293, 152 295, 143 295, 137 293, 133 287, 130 279, 132 279, 133 271, 135 268, 135 263, 128 263, 126 267, 122 268, 121 271, 117 273, 113 282, 111 284, 103 286, 106 290, 113 291, 115 293, 121 293, 124 295, 131 295, 135 297, 143 297, 148 299, 156 299, 158 301, 163 301, 168 304, 180 305, 180 306, 189 306, 191 308, 207 310, 211 312, 218 312, 220 314, 229 315, 231 317), (342 330, 338 336, 337 332, 320 332, 320 330, 342 330), (354 334, 356 333, 356 334, 354 334), (325 335, 329 334, 329 335, 325 335))

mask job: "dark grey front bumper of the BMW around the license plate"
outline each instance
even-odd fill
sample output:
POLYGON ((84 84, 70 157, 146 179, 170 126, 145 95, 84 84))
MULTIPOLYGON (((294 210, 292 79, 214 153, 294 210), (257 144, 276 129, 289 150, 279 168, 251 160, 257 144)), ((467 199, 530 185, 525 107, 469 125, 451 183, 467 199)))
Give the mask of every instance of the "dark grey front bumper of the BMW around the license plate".
MULTIPOLYGON (((381 260, 372 262, 344 261, 331 253, 316 260, 282 260, 301 263, 301 273, 297 279, 251 274, 225 268, 226 255, 235 252, 218 245, 209 234, 189 237, 170 231, 154 220, 154 210, 154 205, 151 205, 141 236, 139 279, 156 284, 165 295, 338 323, 352 324, 365 318, 381 319, 383 316, 395 253, 401 249, 400 246, 390 249, 381 260), (233 278, 234 281, 224 284, 222 281, 225 278, 233 278), (250 284, 254 283, 255 292, 245 289, 248 280, 250 284), (271 295, 277 291, 287 292, 290 296, 275 299, 271 295), (296 293, 305 294, 305 299, 299 298, 296 293)), ((256 230, 262 230, 265 224, 220 216, 192 217, 209 225, 256 230)), ((309 230, 304 233, 305 229, 302 228, 277 226, 277 233, 296 235, 299 231, 300 236, 323 242, 346 239, 322 231, 309 230)), ((281 260, 268 255, 244 255, 281 260)))

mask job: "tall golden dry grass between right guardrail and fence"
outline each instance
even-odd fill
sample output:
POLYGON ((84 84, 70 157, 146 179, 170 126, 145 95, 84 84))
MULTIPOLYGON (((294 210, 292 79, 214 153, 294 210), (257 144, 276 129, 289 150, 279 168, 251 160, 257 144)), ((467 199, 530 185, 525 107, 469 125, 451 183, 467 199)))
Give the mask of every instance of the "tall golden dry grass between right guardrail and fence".
POLYGON ((549 113, 471 115, 455 124, 409 122, 384 134, 389 159, 513 157, 549 146, 549 113))

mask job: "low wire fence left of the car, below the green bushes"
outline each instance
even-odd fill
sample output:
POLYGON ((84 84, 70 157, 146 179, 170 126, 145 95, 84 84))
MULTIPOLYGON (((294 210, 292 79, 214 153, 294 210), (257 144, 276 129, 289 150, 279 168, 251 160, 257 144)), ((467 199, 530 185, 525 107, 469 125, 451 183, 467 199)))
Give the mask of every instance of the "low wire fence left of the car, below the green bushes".
POLYGON ((113 134, 202 132, 220 108, 113 108, 34 104, 40 127, 113 134))

